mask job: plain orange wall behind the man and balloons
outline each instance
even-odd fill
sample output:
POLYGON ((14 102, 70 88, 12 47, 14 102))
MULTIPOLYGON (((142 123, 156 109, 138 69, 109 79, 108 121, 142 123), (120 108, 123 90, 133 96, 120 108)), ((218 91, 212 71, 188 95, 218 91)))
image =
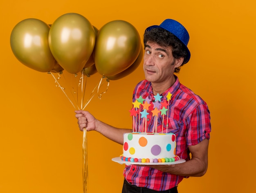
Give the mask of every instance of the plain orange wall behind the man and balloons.
MULTIPOLYGON (((82 193, 82 138, 74 108, 47 73, 14 57, 10 34, 21 20, 51 24, 65 13, 80 13, 95 27, 112 20, 133 24, 141 39, 146 27, 166 18, 190 33, 191 60, 180 82, 209 105, 212 133, 209 169, 184 179, 180 193, 255 192, 256 3, 253 0, 85 1, 2 0, 0 2, 0 192, 82 193)), ((95 74, 88 92, 99 82, 95 74)), ((106 94, 86 108, 96 118, 130 128, 132 91, 144 78, 142 65, 110 81, 106 94)), ((124 165, 111 161, 122 146, 88 133, 89 193, 120 193, 124 165)))

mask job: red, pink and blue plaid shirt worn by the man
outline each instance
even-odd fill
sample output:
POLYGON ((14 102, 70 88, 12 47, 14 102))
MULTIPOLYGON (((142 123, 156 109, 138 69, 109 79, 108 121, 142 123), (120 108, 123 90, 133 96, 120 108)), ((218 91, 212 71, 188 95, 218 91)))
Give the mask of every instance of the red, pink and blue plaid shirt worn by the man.
MULTIPOLYGON (((210 112, 207 104, 198 95, 195 95, 193 91, 180 84, 177 76, 175 76, 176 82, 171 88, 164 93, 161 102, 167 101, 167 95, 170 92, 172 94, 171 100, 168 101, 168 113, 164 116, 164 113, 159 113, 157 119, 157 132, 161 133, 162 130, 166 133, 167 115, 168 115, 168 128, 167 133, 174 133, 176 135, 176 155, 185 160, 190 160, 188 146, 196 145, 204 139, 210 138, 211 123, 210 112), (163 115, 161 115, 163 114, 163 115), (164 124, 162 121, 164 120, 164 124)), ((147 132, 153 132, 154 117, 151 111, 154 109, 155 97, 153 94, 151 83, 147 80, 143 80, 137 84, 133 93, 133 102, 140 98, 151 100, 148 107, 147 122, 145 119, 140 118, 141 113, 137 115, 137 120, 133 121, 134 131, 135 124, 139 128, 139 132, 145 132, 145 126, 147 132)), ((144 100, 145 102, 145 100, 144 100)), ((142 102, 142 104, 144 103, 142 102)), ((164 103, 162 104, 164 105, 164 103)), ((160 107, 161 108, 161 107, 160 107)), ((142 111, 142 108, 141 108, 142 111)), ((141 112, 140 111, 140 112, 141 112)), ((139 187, 146 187, 156 191, 164 191, 177 186, 183 176, 173 175, 165 173, 151 167, 138 166, 138 165, 126 165, 124 169, 124 177, 133 185, 139 187)))

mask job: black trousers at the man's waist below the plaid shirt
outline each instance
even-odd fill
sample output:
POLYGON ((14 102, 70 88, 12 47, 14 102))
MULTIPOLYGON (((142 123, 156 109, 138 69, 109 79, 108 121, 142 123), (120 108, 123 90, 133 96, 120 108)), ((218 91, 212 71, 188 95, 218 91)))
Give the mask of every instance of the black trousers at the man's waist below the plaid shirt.
POLYGON ((155 191, 155 190, 131 185, 126 180, 124 180, 122 193, 178 193, 178 191, 177 191, 177 186, 165 191, 155 191))

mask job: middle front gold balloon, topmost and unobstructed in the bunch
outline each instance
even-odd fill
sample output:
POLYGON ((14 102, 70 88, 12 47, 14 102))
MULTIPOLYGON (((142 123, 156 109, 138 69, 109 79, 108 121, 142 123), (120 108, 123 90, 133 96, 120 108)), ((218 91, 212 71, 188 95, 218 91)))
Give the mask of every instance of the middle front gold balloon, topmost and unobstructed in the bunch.
POLYGON ((80 72, 95 44, 92 24, 82 15, 66 13, 57 18, 49 31, 49 46, 57 62, 67 72, 80 72))

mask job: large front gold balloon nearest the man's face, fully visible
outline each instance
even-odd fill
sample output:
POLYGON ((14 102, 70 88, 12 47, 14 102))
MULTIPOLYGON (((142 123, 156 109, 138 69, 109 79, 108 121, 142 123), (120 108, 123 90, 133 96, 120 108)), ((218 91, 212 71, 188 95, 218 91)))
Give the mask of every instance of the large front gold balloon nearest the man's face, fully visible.
POLYGON ((135 27, 123 20, 108 22, 98 32, 94 48, 97 71, 112 76, 130 67, 139 55, 140 36, 135 27))

